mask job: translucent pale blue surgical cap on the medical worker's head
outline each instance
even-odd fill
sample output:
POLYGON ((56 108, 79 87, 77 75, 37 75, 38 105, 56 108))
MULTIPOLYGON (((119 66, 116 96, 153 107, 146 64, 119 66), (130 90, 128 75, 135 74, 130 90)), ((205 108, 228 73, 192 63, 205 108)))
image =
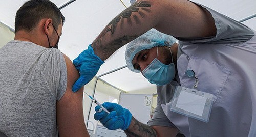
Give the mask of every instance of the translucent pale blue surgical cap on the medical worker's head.
POLYGON ((173 36, 161 33, 156 29, 151 29, 127 45, 125 50, 126 64, 131 71, 140 73, 140 70, 134 69, 132 64, 132 60, 138 52, 145 49, 151 49, 155 46, 171 47, 175 42, 176 39, 173 36))

